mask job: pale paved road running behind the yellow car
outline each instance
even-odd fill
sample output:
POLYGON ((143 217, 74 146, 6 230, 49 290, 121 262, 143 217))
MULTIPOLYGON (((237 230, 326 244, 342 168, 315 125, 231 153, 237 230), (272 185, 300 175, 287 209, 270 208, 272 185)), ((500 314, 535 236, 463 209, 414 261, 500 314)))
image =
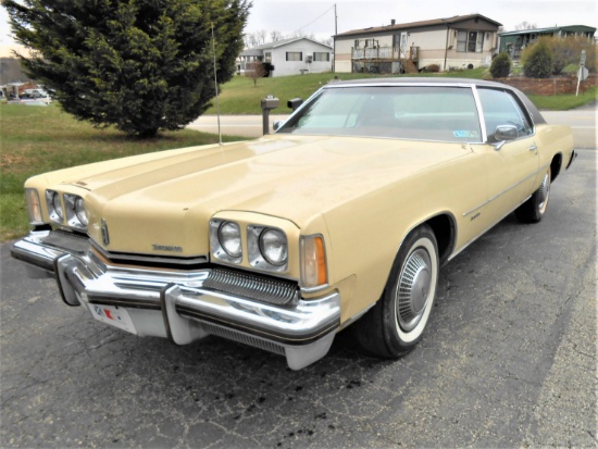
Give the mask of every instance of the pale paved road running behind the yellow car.
MULTIPOLYGON (((573 111, 543 111, 548 123, 568 125, 573 128, 576 148, 591 149, 598 147, 596 139, 596 108, 581 108, 573 111)), ((284 120, 287 115, 271 115, 270 129, 277 120, 284 120)), ((217 117, 215 115, 203 115, 197 119, 189 126, 191 129, 204 133, 217 133, 217 117)), ((245 137, 262 136, 261 115, 223 115, 221 116, 222 134, 245 137)))

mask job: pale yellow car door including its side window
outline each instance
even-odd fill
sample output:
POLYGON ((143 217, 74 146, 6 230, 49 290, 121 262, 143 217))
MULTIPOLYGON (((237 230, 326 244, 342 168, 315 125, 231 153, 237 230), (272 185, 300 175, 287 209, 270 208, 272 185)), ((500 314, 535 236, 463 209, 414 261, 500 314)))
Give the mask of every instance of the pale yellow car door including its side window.
POLYGON ((511 91, 477 88, 477 92, 488 138, 474 151, 484 158, 488 174, 486 213, 499 221, 534 189, 539 167, 536 135, 527 111, 511 91), (497 141, 499 126, 514 126, 513 139, 497 141))

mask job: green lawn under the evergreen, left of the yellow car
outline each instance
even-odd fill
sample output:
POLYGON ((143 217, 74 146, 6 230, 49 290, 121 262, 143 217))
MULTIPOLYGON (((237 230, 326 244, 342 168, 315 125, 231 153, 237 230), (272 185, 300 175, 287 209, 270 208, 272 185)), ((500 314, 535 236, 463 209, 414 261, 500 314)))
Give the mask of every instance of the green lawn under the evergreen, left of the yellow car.
MULTIPOLYGON (((28 217, 23 183, 53 170, 173 148, 215 144, 217 136, 185 129, 150 140, 113 128, 96 129, 53 104, 0 104, 0 241, 25 235, 28 217)), ((223 136, 223 140, 240 138, 223 136)))

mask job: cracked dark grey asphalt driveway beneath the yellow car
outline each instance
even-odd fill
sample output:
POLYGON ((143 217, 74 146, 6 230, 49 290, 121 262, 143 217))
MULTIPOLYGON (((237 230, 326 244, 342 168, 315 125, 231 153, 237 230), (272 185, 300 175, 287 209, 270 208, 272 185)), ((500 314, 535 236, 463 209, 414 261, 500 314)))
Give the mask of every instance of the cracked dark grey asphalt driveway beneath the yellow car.
POLYGON ((444 271, 399 361, 342 333, 300 372, 211 338, 174 347, 67 308, 1 246, 0 447, 597 447, 597 152, 444 271))

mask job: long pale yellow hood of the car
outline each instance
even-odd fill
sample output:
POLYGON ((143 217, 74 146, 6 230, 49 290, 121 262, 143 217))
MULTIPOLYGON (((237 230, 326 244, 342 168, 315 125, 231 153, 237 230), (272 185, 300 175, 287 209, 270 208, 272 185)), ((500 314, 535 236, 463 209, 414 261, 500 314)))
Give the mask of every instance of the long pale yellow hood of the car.
POLYGON ((63 183, 89 190, 96 240, 103 220, 119 229, 119 250, 147 252, 134 248, 140 232, 178 248, 176 236, 201 235, 222 211, 281 217, 301 228, 352 198, 469 152, 461 144, 274 135, 111 161, 63 183))

